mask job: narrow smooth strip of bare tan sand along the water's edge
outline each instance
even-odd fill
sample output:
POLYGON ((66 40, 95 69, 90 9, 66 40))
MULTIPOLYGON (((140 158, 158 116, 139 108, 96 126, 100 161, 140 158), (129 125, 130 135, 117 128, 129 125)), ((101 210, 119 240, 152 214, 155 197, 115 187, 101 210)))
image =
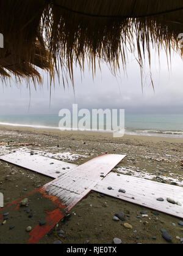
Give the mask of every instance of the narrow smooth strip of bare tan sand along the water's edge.
POLYGON ((112 132, 94 132, 94 131, 73 131, 73 130, 59 130, 54 128, 47 127, 30 127, 30 126, 11 126, 11 125, 2 125, 0 124, 0 130, 12 130, 19 132, 33 132, 35 134, 49 134, 49 135, 86 135, 87 137, 100 137, 100 138, 110 138, 113 141, 123 141, 123 140, 141 140, 141 141, 151 141, 158 143, 160 141, 166 141, 169 143, 183 143, 183 138, 174 138, 174 137, 160 137, 152 135, 129 135, 124 134, 123 137, 113 138, 112 132))

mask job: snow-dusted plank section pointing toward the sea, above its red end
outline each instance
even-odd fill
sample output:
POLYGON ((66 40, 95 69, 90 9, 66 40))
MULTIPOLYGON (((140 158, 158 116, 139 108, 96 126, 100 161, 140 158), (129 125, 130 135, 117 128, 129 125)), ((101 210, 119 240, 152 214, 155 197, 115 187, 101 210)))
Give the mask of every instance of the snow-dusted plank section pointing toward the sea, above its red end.
POLYGON ((125 155, 104 154, 79 165, 43 187, 49 190, 49 195, 64 201, 66 208, 70 210, 102 180, 101 174, 106 176, 124 157, 125 155))

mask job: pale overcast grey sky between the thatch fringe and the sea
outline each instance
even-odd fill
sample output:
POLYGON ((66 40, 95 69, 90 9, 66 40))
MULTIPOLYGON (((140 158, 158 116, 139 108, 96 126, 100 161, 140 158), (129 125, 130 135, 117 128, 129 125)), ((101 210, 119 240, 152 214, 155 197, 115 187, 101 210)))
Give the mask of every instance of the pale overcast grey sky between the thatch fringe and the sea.
MULTIPOLYGON (((102 65, 102 73, 97 70, 95 79, 86 69, 81 81, 79 69, 74 72, 75 95, 73 88, 63 89, 56 81, 51 92, 51 105, 49 105, 49 89, 47 77, 42 88, 31 85, 29 89, 24 83, 18 89, 15 83, 0 88, 0 114, 58 114, 61 108, 70 108, 78 104, 79 108, 125 108, 126 113, 183 113, 183 69, 182 60, 174 55, 171 60, 171 70, 168 71, 167 57, 160 55, 161 66, 155 51, 152 51, 152 77, 155 92, 146 81, 141 88, 140 69, 133 57, 129 58, 127 76, 123 70, 117 78, 113 77, 106 64, 102 65), (29 108, 30 100, 30 108, 29 108)), ((148 69, 146 69, 148 75, 148 69)))

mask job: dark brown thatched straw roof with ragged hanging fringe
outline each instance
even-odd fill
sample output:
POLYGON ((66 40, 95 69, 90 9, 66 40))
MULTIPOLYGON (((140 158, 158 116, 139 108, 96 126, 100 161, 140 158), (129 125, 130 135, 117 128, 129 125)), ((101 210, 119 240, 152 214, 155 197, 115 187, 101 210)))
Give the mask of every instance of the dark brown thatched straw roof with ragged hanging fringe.
POLYGON ((171 48, 181 53, 182 21, 182 0, 1 0, 1 78, 41 83, 40 68, 73 80, 73 64, 83 70, 86 59, 93 71, 98 60, 115 72, 135 48, 142 68, 151 43, 167 55, 171 48))

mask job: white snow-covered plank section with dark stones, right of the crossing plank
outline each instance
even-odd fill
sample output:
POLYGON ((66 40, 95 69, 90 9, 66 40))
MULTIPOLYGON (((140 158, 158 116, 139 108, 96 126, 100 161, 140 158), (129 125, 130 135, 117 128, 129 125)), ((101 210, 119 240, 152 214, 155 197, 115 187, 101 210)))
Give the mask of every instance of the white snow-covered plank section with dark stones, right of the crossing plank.
POLYGON ((155 209, 163 213, 183 218, 183 188, 169 184, 157 183, 147 179, 109 173, 106 178, 99 181, 93 190, 110 195, 121 200, 129 201, 137 205, 155 209), (107 189, 111 186, 112 190, 107 189), (126 190, 123 194, 119 189, 126 190), (164 201, 157 201, 162 197, 164 201), (169 203, 167 198, 178 201, 181 205, 169 203))

